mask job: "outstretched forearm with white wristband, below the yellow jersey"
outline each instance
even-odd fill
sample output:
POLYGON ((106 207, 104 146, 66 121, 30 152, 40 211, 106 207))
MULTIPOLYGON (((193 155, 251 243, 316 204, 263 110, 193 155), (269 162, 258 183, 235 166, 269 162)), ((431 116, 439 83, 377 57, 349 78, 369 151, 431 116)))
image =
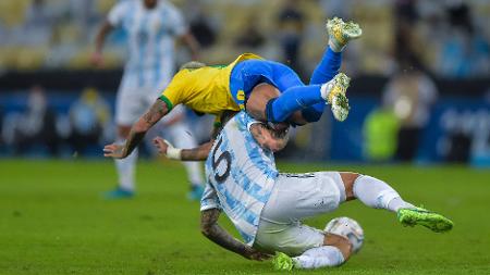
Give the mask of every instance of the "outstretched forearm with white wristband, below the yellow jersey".
POLYGON ((193 149, 180 149, 173 147, 172 143, 161 137, 156 137, 154 139, 154 145, 157 147, 160 154, 163 154, 171 160, 179 161, 205 161, 209 155, 209 151, 211 151, 213 142, 215 139, 211 139, 193 149))

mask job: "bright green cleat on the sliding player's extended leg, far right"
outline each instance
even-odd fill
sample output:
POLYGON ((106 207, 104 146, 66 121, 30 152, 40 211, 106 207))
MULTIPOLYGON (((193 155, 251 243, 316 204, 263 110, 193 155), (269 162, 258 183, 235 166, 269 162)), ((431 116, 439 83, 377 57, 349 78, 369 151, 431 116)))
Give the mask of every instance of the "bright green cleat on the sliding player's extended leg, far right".
POLYGON ((422 225, 437 233, 449 232, 453 228, 451 220, 422 208, 400 209, 397 217, 403 226, 422 225))

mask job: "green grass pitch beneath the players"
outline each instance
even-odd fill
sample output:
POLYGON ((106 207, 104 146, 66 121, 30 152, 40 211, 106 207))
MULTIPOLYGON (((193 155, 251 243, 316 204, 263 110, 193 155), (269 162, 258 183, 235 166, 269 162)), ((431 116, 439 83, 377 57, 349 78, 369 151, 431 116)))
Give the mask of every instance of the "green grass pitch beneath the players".
MULTIPOLYGON (((341 267, 304 274, 490 274, 490 171, 460 166, 279 165, 284 172, 356 171, 387 180, 414 203, 455 222, 449 234, 405 228, 358 201, 306 221, 347 215, 365 246, 341 267)), ((139 162, 135 199, 105 201, 110 161, 0 161, 0 274, 278 274, 199 233, 199 204, 186 200, 183 167, 139 162)), ((222 216, 221 224, 232 229, 222 216)), ((233 229, 233 233, 234 229, 233 229)))

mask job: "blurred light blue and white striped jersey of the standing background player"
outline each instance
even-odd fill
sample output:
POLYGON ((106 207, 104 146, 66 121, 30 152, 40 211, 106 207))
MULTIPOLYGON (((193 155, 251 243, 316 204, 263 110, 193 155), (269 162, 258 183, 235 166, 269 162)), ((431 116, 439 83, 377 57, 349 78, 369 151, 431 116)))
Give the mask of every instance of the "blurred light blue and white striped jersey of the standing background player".
POLYGON ((180 11, 166 0, 159 0, 151 10, 142 0, 126 0, 112 8, 108 21, 127 34, 128 59, 122 85, 167 86, 174 73, 174 38, 187 30, 180 11))

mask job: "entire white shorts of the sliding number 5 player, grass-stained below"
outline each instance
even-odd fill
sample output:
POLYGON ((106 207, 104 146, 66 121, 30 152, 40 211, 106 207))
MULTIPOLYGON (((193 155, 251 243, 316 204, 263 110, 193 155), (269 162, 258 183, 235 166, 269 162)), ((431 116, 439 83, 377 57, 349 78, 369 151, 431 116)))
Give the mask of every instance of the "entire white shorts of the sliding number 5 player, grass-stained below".
POLYGON ((338 172, 280 174, 260 215, 254 247, 299 255, 322 246, 323 230, 301 221, 334 211, 342 201, 345 188, 338 172))

